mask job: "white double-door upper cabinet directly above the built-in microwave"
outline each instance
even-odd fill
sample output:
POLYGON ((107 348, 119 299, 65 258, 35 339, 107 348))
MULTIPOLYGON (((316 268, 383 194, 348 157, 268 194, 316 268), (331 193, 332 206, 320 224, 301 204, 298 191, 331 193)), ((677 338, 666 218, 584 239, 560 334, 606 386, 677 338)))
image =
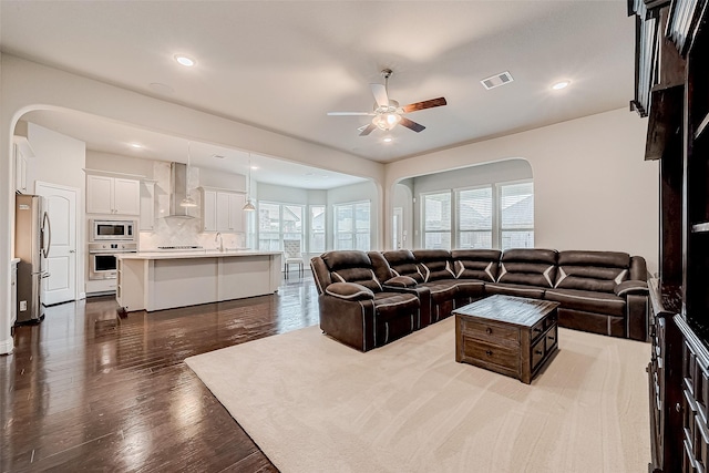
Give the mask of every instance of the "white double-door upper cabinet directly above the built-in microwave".
POLYGON ((101 174, 86 175, 86 213, 141 214, 141 182, 101 174))

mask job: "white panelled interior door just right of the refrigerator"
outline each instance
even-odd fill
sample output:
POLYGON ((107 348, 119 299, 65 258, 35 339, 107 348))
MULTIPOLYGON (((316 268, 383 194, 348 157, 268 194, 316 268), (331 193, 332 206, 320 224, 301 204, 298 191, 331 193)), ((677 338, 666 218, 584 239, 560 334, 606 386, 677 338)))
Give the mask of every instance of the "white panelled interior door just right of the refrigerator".
POLYGON ((75 300, 79 189, 38 182, 34 192, 44 197, 44 210, 51 225, 51 247, 44 261, 50 276, 42 279, 42 302, 51 306, 75 300))

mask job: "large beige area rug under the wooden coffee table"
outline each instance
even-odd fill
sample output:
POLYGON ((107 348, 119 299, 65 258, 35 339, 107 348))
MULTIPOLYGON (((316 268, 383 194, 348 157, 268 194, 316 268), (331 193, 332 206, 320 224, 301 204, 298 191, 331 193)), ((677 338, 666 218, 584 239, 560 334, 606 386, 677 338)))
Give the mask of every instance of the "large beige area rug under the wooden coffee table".
POLYGON ((454 320, 360 353, 317 327, 187 364, 282 472, 643 472, 650 346, 559 330, 531 385, 454 360, 454 320))

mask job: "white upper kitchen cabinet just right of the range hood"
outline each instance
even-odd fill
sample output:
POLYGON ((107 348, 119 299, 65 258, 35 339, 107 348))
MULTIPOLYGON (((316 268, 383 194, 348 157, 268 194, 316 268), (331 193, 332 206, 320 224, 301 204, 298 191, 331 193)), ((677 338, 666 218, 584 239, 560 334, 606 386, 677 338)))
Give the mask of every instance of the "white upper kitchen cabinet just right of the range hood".
POLYGON ((244 194, 203 188, 203 232, 243 233, 245 203, 244 194))

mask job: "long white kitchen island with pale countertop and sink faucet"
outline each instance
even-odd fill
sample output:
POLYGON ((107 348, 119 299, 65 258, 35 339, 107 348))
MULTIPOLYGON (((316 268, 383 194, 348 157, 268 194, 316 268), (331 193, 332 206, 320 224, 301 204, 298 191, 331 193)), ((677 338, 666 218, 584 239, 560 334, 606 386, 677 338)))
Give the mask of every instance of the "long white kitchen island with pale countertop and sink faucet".
POLYGON ((163 310, 274 294, 280 251, 196 250, 117 256, 116 300, 125 311, 163 310))

